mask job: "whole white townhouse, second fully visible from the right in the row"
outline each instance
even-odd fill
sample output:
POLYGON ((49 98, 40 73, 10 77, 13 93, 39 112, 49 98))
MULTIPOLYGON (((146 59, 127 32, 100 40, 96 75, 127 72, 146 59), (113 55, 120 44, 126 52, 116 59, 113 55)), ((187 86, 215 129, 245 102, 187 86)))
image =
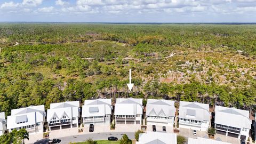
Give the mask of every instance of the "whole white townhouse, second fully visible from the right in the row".
POLYGON ((180 101, 179 127, 198 131, 207 131, 211 113, 209 105, 198 102, 180 101))

